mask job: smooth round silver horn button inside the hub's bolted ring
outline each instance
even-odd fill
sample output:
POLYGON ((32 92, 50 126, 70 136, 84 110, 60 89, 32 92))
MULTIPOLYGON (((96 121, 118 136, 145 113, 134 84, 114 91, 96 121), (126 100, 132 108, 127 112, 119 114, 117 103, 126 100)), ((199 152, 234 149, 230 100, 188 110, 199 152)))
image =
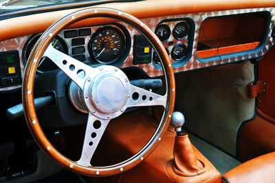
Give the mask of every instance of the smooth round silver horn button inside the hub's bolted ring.
POLYGON ((100 74, 91 87, 91 102, 103 113, 119 111, 126 103, 126 83, 113 72, 100 74))

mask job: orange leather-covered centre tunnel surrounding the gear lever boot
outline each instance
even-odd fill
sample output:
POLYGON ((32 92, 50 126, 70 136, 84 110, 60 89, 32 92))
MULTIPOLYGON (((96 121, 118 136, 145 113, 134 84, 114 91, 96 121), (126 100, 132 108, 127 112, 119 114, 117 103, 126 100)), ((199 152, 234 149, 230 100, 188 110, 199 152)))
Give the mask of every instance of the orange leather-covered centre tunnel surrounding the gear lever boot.
MULTIPOLYGON (((155 123, 155 118, 144 110, 132 111, 120 116, 118 120, 112 120, 104 137, 109 144, 100 153, 111 151, 113 154, 110 161, 113 161, 115 157, 116 159, 129 158, 151 138, 155 127, 157 127, 155 123)), ((169 127, 155 151, 141 164, 122 173, 120 182, 221 182, 219 171, 191 144, 196 159, 199 159, 204 165, 204 172, 192 176, 182 175, 173 163, 175 135, 176 133, 169 127)), ((177 151, 177 147, 175 151, 177 151)), ((189 171, 189 166, 187 169, 189 171)))

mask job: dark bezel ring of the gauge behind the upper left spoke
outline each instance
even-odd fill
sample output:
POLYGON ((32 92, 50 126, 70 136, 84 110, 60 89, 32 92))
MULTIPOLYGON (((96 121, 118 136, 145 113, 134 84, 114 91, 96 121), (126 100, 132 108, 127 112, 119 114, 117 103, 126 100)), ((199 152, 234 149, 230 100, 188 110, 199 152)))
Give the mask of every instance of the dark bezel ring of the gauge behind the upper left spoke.
MULTIPOLYGON (((33 34, 32 36, 30 36, 30 38, 25 42, 25 45, 23 47, 23 50, 22 50, 22 63, 25 67, 25 65, 27 64, 28 62, 28 58, 26 58, 27 56, 27 51, 28 51, 28 47, 30 47, 30 43, 32 43, 32 41, 34 41, 34 39, 37 39, 37 41, 39 40, 39 37, 41 36, 42 34, 33 34)), ((63 43, 63 45, 65 45, 65 54, 69 54, 69 48, 68 48, 68 45, 67 43, 64 41, 64 39, 61 37, 61 36, 55 36, 54 38, 58 39, 59 41, 61 41, 61 43, 63 43)), ((37 42, 36 41, 36 42, 37 42)), ((35 45, 36 43, 34 43, 35 45)), ((30 52, 31 53, 31 52, 30 52)), ((30 56, 30 54, 29 54, 30 56)), ((42 59, 42 58, 41 58, 42 59)), ((58 67, 56 67, 56 69, 58 69, 58 67)), ((50 71, 50 70, 49 70, 50 71)), ((39 74, 42 74, 44 72, 47 72, 47 71, 41 71, 39 69, 36 70, 36 72, 38 72, 39 74)))

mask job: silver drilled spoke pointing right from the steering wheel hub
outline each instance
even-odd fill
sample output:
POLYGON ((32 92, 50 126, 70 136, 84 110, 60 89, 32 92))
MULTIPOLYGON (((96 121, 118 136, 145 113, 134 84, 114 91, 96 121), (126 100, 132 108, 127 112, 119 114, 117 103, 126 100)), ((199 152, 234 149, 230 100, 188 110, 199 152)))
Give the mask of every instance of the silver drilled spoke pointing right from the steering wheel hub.
POLYGON ((141 106, 152 106, 162 105, 166 107, 167 96, 155 94, 146 89, 131 85, 131 100, 128 107, 141 107, 141 106))

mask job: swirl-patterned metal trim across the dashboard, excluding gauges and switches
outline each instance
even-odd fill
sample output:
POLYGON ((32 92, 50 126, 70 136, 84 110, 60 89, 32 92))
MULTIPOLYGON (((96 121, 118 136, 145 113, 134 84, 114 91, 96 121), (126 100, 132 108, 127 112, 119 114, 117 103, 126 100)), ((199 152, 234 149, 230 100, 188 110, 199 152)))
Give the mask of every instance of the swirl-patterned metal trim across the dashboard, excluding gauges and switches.
MULTIPOLYGON (((270 48, 275 43, 275 40, 272 37, 272 28, 274 27, 274 24, 275 24, 274 14, 275 14, 275 8, 252 8, 252 9, 241 9, 241 10, 224 10, 224 11, 216 11, 216 12, 199 12, 199 13, 192 13, 192 14, 179 14, 179 15, 164 16, 164 17, 153 17, 153 18, 141 19, 141 21, 144 22, 149 28, 151 28, 151 30, 153 30, 153 32, 155 31, 155 28, 157 27, 158 23, 163 21, 164 19, 190 18, 195 22, 195 34, 194 34, 194 41, 193 41, 193 45, 192 45, 191 58, 185 65, 173 68, 174 72, 184 72, 184 71, 188 71, 188 70, 192 70, 192 69, 199 69, 199 68, 203 68, 203 67, 210 67, 210 66, 221 65, 221 64, 225 64, 225 63, 233 63, 236 61, 243 61, 243 60, 247 60, 250 58, 257 58, 257 57, 263 56, 265 53, 268 52, 268 50, 270 50, 270 48), (197 42, 198 42, 198 36, 199 36, 199 27, 205 19, 207 19, 209 17, 218 17, 218 16, 225 16, 225 15, 232 15, 232 14, 243 14, 243 13, 249 13, 249 12, 263 12, 263 11, 270 12, 272 19, 271 19, 271 23, 269 26, 269 32, 267 34, 267 41, 266 41, 265 46, 263 47, 262 50, 260 50, 259 52, 252 52, 252 53, 251 52, 250 53, 243 52, 242 55, 236 54, 236 56, 229 55, 228 58, 225 58, 225 56, 223 56, 222 60, 218 59, 218 60, 213 60, 213 61, 208 61, 208 62, 199 61, 199 58, 197 58, 197 42)), ((153 62, 142 64, 142 65, 133 65, 133 36, 135 34, 140 34, 140 33, 137 32, 136 30, 134 30, 133 28, 131 28, 129 25, 126 25, 125 23, 121 23, 121 22, 118 22, 118 23, 124 25, 131 35, 131 50, 129 52, 129 55, 126 57, 125 61, 121 65, 119 65, 119 67, 122 68, 122 67, 136 66, 136 67, 140 67, 140 68, 144 69, 144 72, 146 72, 148 74, 148 76, 151 76, 151 77, 162 76, 163 75, 162 70, 157 69, 153 62)), ((92 34, 95 32, 95 29, 99 28, 99 27, 100 26, 90 27, 90 28, 92 28, 92 34)), ((62 36, 62 34, 63 34, 63 32, 61 32, 61 34, 58 34, 58 35, 64 38, 64 36, 62 36)), ((30 36, 21 36, 18 38, 8 39, 6 41, 0 42, 0 51, 1 52, 2 51, 10 51, 10 50, 18 50, 19 51, 22 77, 23 77, 23 73, 24 73, 24 69, 25 69, 23 66, 23 63, 22 63, 22 58, 21 58, 22 50, 25 45, 25 42, 28 40, 29 37, 30 36)), ((88 40, 86 37, 85 42, 87 42, 87 41, 88 40)), ((183 41, 185 41, 184 43, 186 43, 186 39, 184 39, 183 41)), ((65 40, 65 42, 68 43, 66 40, 65 40)), ((86 49, 87 49, 87 47, 86 47, 86 49)), ((70 51, 69 51, 69 54, 70 54, 70 51)), ((85 56, 88 56, 87 53, 85 53, 85 56)), ((2 89, 0 89, 0 91, 16 89, 19 87, 21 87, 21 85, 14 86, 14 87, 2 88, 2 89)))

